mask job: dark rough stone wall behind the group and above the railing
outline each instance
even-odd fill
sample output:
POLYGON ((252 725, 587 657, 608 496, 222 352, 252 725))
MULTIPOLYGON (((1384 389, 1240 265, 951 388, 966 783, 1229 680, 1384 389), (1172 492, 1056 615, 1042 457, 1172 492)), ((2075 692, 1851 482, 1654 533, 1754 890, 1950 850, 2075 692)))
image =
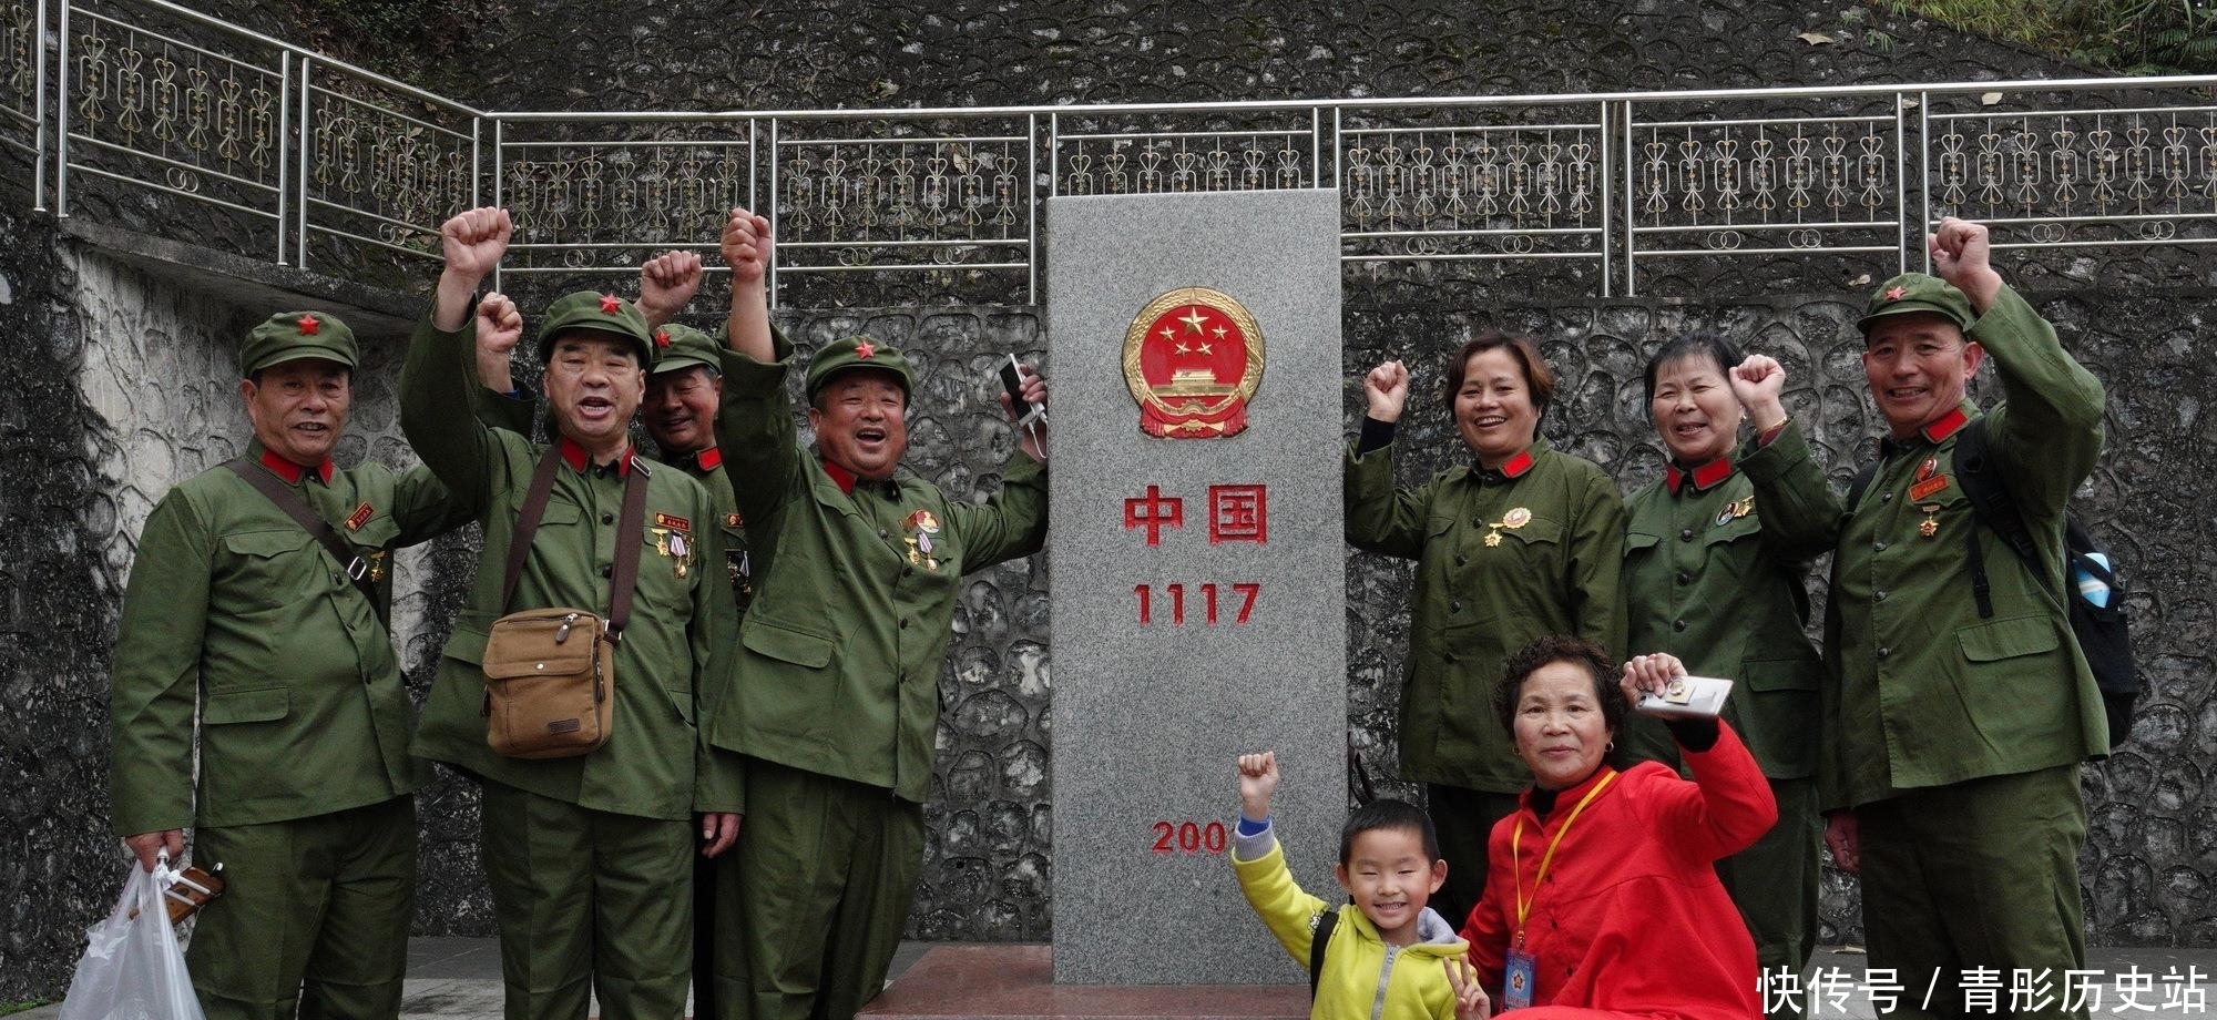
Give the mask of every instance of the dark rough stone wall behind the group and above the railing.
MULTIPOLYGON (((333 31, 317 2, 195 7, 501 109, 1392 98, 2084 73, 1884 4, 1372 0, 1226 11, 1071 0, 674 0, 652 9, 472 0, 463 13, 481 31, 452 31, 441 20, 415 29, 437 40, 406 29, 333 31), (1802 42, 1798 33, 1811 29, 1836 42, 1802 42), (419 53, 441 60, 426 67, 419 53)), ((9 479, 0 486, 0 705, 16 723, 0 730, 0 1002, 60 993, 82 929, 113 902, 120 869, 111 863, 120 856, 104 803, 106 656, 129 550, 166 483, 215 463, 244 435, 228 404, 228 344, 268 313, 222 306, 213 288, 188 293, 98 255, 64 253, 51 222, 27 215, 13 197, 18 177, 9 175, 11 197, 0 202, 0 337, 18 353, 0 373, 0 461, 9 479), (95 368, 140 381, 95 381, 95 368)), ((86 215, 104 211, 120 226, 144 222, 175 235, 160 231, 177 215, 173 204, 91 200, 86 215)), ((206 217, 204 206, 188 208, 206 217)), ((257 251, 235 231, 208 217, 206 244, 257 251)), ((2024 279, 2064 324, 2073 350, 2113 386, 2111 446, 2082 492, 2082 510, 2102 521, 2133 570, 2139 652, 2155 685, 2135 747, 2086 769, 2091 938, 2210 945, 2217 796, 2206 774, 2217 763, 2217 698, 2206 647, 2217 623, 2206 588, 2217 563, 2206 534, 2217 521, 2206 510, 2204 479, 2217 468, 2217 437, 2204 404, 2213 392, 2217 264, 2206 255, 2142 253, 2153 255, 2060 253, 2042 257, 2024 279)), ((1802 379, 1794 410, 1814 426, 1845 483, 1856 450, 1876 430, 1845 328, 1867 286, 1853 279, 1867 266, 1696 268, 1714 284, 1685 293, 1718 299, 1550 302, 1543 282, 1470 268, 1348 273, 1346 368, 1352 379, 1379 357, 1412 357, 1419 386, 1437 386, 1439 357, 1468 330, 1534 330, 1565 375, 1550 435, 1607 463, 1629 488, 1661 463, 1641 424, 1643 355, 1680 328, 1716 326, 1787 359, 1802 379)), ((805 344, 867 326, 931 350, 911 466, 953 490, 991 486, 1007 430, 993 424, 984 368, 1004 350, 1044 350, 1038 313, 858 310, 887 304, 885 295, 856 288, 847 302, 854 308, 785 310, 780 322, 805 344)), ((379 366, 386 390, 366 392, 357 406, 348 455, 399 461, 406 452, 392 432, 392 364, 379 366)), ((1355 412, 1359 395, 1350 386, 1344 415, 1355 412)), ((1423 415, 1419 408, 1403 439, 1412 477, 1459 455, 1443 419, 1423 415)), ((441 621, 459 605, 459 579, 472 561, 468 534, 401 561, 426 579, 417 588, 428 588, 410 594, 397 616, 401 661, 417 690, 428 683, 446 636, 441 621)), ((1394 761, 1386 723, 1406 647, 1403 570, 1350 554, 1350 723, 1375 774, 1390 774, 1394 761)), ((920 938, 1046 938, 1044 592, 1044 559, 1004 565, 971 583, 956 619, 947 727, 927 809, 929 860, 911 920, 920 938)), ((443 778, 423 794, 421 816, 419 931, 490 931, 474 860, 474 794, 443 778)), ((1851 883, 1827 883, 1825 916, 1827 940, 1858 936, 1851 883)))

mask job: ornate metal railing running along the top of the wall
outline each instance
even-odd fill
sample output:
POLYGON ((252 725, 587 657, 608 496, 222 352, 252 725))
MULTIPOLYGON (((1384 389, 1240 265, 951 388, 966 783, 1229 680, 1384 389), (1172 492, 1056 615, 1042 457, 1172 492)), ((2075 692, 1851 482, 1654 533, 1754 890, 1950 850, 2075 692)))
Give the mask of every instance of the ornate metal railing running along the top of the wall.
MULTIPOLYGON (((517 215, 508 273, 630 273, 661 248, 712 251, 743 204, 776 228, 774 299, 920 275, 964 299, 1035 302, 1055 195, 1335 188, 1350 268, 1488 264, 1561 279, 1565 297, 1678 286, 1687 259, 1918 268, 1942 215, 1989 222, 2004 248, 2217 246, 2213 95, 2217 78, 2104 78, 521 113, 168 0, 0 0, 0 157, 24 162, 33 204, 60 215, 86 215, 95 184, 168 195, 308 264, 437 255, 443 217, 499 202, 517 215)), ((186 239, 202 226, 153 224, 186 239)))

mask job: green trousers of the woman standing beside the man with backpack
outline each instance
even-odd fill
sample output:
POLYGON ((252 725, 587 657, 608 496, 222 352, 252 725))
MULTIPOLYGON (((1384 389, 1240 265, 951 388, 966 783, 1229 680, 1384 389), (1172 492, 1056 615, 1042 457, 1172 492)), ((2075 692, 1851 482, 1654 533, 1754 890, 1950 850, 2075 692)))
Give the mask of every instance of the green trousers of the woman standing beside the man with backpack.
MULTIPOLYGON (((1769 982, 1780 971, 1802 973, 1816 951, 1818 847, 1825 843, 1825 816, 1816 809, 1816 781, 1774 778, 1778 825, 1747 847, 1716 863, 1716 878, 1740 907, 1747 934, 1756 938, 1756 965, 1769 982)), ((1785 985, 1787 989, 1796 985, 1785 985)), ((1802 1016, 1802 1007, 1776 1009, 1769 1016, 1802 1016)))

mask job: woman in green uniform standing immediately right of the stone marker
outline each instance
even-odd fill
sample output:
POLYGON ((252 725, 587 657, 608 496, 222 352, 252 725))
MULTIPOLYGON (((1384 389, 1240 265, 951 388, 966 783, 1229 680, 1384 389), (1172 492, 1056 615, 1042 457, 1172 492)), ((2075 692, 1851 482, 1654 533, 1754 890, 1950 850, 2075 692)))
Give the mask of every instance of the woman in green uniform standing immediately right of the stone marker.
POLYGON ((1370 410, 1346 463, 1346 534, 1359 550, 1417 561, 1401 772, 1426 783, 1448 860, 1439 907, 1461 918, 1485 894, 1494 820, 1532 783, 1492 712, 1501 661, 1543 634, 1576 634, 1623 656, 1625 503, 1601 468, 1539 435, 1554 373, 1528 337, 1488 333, 1448 361, 1445 399, 1477 463, 1421 486, 1394 488, 1408 368, 1372 368, 1363 395, 1370 410))

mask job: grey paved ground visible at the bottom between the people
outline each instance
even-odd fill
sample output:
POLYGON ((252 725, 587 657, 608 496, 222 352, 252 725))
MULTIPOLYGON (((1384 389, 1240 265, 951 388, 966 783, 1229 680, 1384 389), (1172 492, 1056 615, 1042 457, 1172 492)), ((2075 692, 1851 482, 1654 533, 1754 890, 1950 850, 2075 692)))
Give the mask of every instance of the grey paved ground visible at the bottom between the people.
MULTIPOLYGON (((898 980, 933 942, 902 942, 893 958, 898 980)), ((2093 949, 2088 967, 2102 971, 2086 980, 2088 1018, 2190 1020, 2210 1018, 2208 991, 2217 985, 2217 947, 2213 949, 2093 949)), ((1816 1020, 1873 1020, 1882 1016, 1878 998, 1862 969, 1862 953, 1825 949, 1811 962, 1809 987, 1816 991, 1816 1020)), ((1288 978, 1299 980, 1290 971, 1288 978)), ((2062 991, 2060 985, 2053 991, 2062 991)), ((1922 989, 1900 989, 1909 1004, 1922 989)), ((2009 1009, 2009 976, 1995 991, 1995 1016, 2009 1009)), ((49 1004, 16 1013, 11 1020, 58 1020, 62 1007, 49 1004)), ((417 938, 408 945, 408 993, 401 1002, 406 1020, 501 1020, 501 958, 490 938, 417 938)))

